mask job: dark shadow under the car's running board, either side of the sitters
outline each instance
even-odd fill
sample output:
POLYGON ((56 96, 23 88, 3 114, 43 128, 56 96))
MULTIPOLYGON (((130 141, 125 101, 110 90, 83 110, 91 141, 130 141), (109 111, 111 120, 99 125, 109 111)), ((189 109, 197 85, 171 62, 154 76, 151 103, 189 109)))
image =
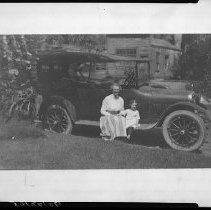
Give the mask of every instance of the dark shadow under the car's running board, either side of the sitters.
MULTIPOLYGON (((100 138, 100 128, 98 126, 76 125, 72 134, 76 136, 100 138)), ((160 129, 135 131, 130 141, 127 139, 119 140, 128 144, 137 144, 148 147, 167 147, 160 129)))

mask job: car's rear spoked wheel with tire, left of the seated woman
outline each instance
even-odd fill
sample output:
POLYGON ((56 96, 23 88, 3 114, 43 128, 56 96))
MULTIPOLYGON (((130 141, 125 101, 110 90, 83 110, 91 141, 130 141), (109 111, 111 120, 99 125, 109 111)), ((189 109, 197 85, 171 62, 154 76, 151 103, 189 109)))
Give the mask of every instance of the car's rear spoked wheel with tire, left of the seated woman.
POLYGON ((65 108, 51 105, 47 109, 46 122, 51 131, 68 134, 72 130, 72 121, 65 108))

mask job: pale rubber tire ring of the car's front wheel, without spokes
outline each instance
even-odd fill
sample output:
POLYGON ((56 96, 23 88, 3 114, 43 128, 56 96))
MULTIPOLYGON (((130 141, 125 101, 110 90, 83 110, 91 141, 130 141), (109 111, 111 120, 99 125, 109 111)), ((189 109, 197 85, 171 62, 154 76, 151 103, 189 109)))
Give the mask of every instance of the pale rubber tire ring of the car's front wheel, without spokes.
POLYGON ((172 149, 181 150, 181 151, 190 152, 190 151, 198 150, 203 145, 203 143, 206 139, 206 126, 205 126, 203 119, 200 116, 198 116, 197 114, 195 114, 191 111, 186 111, 186 110, 177 110, 177 111, 174 111, 171 114, 169 114, 163 122, 162 132, 163 132, 163 137, 164 137, 164 140, 166 141, 166 143, 172 149), (200 130, 201 130, 201 135, 200 135, 199 140, 194 145, 192 145, 190 147, 182 147, 182 146, 179 146, 179 145, 175 144, 174 142, 172 142, 171 138, 169 137, 168 131, 167 131, 167 126, 168 126, 169 122, 171 121, 171 119, 174 118, 175 116, 181 115, 181 114, 188 115, 189 117, 196 120, 198 122, 200 130))

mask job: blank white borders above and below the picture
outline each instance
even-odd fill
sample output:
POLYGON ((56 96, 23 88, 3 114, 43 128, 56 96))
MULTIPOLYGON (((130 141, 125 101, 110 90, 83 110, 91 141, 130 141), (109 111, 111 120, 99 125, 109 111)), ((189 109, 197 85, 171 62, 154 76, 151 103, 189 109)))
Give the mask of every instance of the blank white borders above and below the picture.
MULTIPOLYGON (((210 0, 198 4, 4 3, 0 4, 0 34, 211 33, 210 9, 210 0)), ((211 206, 210 183, 210 169, 2 170, 0 200, 211 206)))

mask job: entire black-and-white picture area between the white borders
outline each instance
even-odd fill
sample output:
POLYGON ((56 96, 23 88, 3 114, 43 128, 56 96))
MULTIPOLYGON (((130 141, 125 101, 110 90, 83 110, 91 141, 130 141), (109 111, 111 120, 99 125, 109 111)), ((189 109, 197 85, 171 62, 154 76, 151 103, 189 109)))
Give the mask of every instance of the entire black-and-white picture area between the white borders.
POLYGON ((211 167, 210 34, 0 38, 2 169, 211 167))

